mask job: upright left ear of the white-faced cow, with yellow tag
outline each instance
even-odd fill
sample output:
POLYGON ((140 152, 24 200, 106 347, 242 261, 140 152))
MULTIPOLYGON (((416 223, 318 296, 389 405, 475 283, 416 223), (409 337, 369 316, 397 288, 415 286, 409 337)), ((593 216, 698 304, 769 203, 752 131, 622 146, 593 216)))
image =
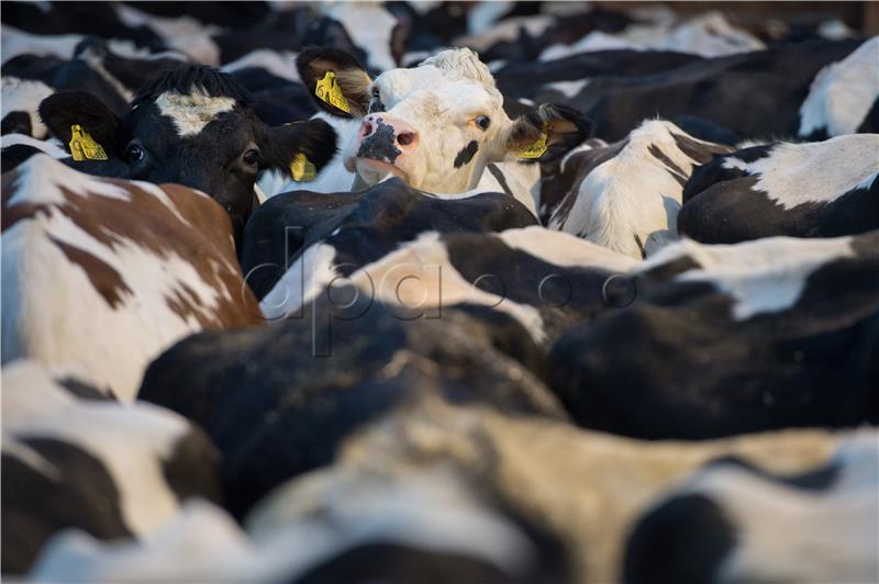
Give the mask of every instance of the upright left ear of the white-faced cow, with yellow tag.
POLYGON ((357 59, 334 48, 310 47, 296 59, 299 77, 314 102, 340 117, 363 117, 372 80, 357 59))

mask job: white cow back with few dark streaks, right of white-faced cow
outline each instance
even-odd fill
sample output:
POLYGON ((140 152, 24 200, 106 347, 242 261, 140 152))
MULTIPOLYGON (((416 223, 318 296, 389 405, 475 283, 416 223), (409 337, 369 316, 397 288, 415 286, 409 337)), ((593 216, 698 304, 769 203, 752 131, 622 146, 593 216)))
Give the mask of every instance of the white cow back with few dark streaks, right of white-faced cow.
POLYGON ((693 167, 730 149, 664 121, 644 122, 616 144, 583 147, 565 160, 561 175, 577 176, 563 177, 570 190, 553 211, 549 228, 643 258, 677 239, 683 186, 693 167))

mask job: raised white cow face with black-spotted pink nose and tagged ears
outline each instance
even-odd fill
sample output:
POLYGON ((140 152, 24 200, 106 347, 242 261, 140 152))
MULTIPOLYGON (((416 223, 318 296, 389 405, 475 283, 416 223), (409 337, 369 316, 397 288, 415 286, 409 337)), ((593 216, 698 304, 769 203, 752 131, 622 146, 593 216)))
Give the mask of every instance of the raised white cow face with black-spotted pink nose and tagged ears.
POLYGON ((393 173, 424 191, 463 192, 476 187, 490 161, 515 158, 534 144, 527 160, 552 158, 590 130, 578 112, 560 105, 510 120, 491 72, 467 48, 375 81, 338 50, 309 48, 297 64, 321 108, 361 120, 359 134, 343 147, 345 166, 367 186, 393 173))

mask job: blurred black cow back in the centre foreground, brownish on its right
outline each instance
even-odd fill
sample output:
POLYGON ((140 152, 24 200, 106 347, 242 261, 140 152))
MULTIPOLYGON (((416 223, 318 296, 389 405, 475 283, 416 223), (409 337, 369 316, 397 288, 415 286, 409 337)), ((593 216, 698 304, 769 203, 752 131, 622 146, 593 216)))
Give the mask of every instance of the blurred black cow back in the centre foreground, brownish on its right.
POLYGON ((478 305, 412 318, 336 285, 272 326, 182 340, 151 364, 138 398, 205 428, 223 453, 227 508, 241 516, 420 400, 566 419, 521 364, 534 352, 515 319, 478 305))

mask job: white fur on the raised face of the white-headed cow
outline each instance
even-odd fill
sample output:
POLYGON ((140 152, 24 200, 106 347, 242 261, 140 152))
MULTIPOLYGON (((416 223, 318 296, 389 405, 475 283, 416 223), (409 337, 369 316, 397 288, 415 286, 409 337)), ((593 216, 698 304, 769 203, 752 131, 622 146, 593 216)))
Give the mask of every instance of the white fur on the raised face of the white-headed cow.
MULTIPOLYGON (((394 166, 414 188, 436 193, 463 192, 479 181, 490 159, 501 159, 511 121, 491 72, 469 50, 448 50, 414 69, 379 76, 374 89, 385 105, 377 115, 403 121, 418 133, 418 147, 401 151, 394 166), (488 128, 475 120, 488 116, 488 128), (475 145, 471 146, 471 143, 475 145), (471 155, 461 155, 467 148, 471 155)), ((344 157, 355 167, 359 139, 344 157)), ((363 165, 356 165, 363 168, 363 165)), ((372 173, 363 176, 372 184, 372 173)))

